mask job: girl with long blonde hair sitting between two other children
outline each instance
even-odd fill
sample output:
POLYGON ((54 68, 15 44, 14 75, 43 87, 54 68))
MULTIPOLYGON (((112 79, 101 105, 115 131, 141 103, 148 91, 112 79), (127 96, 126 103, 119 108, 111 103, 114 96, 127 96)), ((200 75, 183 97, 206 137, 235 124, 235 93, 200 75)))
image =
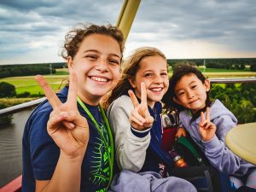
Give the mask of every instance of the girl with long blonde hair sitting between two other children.
MULTIPOLYGON (((161 148, 160 100, 169 84, 166 56, 159 49, 143 47, 124 66, 122 78, 108 98, 117 164, 121 170, 151 171, 164 177, 173 162, 161 148)), ((181 186, 178 191, 195 191, 192 184, 181 178, 168 179, 173 181, 173 191, 177 191, 177 183, 181 186)))

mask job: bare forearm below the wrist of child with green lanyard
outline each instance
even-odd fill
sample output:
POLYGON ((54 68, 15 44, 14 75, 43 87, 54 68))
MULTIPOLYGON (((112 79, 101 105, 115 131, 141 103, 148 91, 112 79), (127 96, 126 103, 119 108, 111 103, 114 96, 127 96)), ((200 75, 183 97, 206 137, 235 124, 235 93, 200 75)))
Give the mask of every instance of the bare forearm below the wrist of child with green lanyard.
POLYGON ((79 156, 71 158, 61 152, 53 177, 49 181, 37 180, 36 192, 79 192, 83 158, 84 154, 79 154, 79 156))

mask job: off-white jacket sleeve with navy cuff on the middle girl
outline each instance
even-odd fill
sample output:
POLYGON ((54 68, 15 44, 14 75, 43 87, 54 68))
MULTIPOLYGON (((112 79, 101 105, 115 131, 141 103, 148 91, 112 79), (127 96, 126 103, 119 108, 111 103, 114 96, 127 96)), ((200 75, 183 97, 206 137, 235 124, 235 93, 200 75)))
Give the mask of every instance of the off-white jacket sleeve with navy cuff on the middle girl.
POLYGON ((121 96, 108 108, 108 121, 113 131, 119 168, 139 172, 143 167, 146 150, 150 143, 150 129, 136 131, 131 128, 129 116, 132 109, 130 97, 121 96))

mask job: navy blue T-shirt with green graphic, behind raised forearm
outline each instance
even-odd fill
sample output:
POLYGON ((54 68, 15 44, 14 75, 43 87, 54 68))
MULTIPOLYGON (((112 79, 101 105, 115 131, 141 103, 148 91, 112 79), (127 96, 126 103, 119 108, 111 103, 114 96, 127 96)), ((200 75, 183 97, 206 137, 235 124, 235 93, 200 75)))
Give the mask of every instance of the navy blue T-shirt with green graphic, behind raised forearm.
MULTIPOLYGON (((68 88, 65 87, 57 94, 61 102, 67 101, 67 92, 68 88)), ((110 146, 108 131, 102 123, 99 108, 84 104, 100 125, 110 146)), ((79 113, 87 119, 90 130, 89 143, 82 163, 80 191, 105 191, 110 175, 108 154, 96 126, 79 104, 78 107, 79 113)), ((35 191, 35 179, 49 180, 55 172, 60 148, 47 132, 49 113, 52 110, 48 101, 42 102, 26 122, 22 139, 22 192, 35 191)))

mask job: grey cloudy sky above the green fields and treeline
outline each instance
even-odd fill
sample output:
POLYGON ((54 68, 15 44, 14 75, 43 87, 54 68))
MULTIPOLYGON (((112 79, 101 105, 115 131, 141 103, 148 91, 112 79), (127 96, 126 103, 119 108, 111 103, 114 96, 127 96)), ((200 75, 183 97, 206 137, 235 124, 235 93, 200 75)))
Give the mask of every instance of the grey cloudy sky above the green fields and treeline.
MULTIPOLYGON (((1 0, 0 65, 63 61, 77 23, 115 24, 122 0, 1 0)), ((169 59, 256 57, 254 0, 142 0, 125 45, 169 59)))

